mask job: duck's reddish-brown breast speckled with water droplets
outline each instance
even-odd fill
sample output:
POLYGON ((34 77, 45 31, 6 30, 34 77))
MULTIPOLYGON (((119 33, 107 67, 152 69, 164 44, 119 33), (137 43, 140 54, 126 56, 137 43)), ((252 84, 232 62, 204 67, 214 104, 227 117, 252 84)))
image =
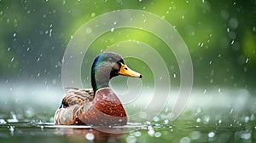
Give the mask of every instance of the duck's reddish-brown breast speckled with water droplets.
POLYGON ((79 117, 88 125, 125 125, 127 117, 119 98, 109 88, 96 91, 89 109, 79 117))

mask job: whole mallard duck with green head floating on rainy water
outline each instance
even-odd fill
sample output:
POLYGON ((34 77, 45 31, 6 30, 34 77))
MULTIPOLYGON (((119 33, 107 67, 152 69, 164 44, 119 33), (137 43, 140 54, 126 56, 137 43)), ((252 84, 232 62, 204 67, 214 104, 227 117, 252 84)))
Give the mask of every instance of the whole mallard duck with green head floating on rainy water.
POLYGON ((92 89, 68 88, 55 111, 55 125, 127 124, 125 108, 109 87, 109 81, 119 75, 142 78, 142 74, 131 70, 121 55, 105 52, 96 56, 90 75, 92 89))

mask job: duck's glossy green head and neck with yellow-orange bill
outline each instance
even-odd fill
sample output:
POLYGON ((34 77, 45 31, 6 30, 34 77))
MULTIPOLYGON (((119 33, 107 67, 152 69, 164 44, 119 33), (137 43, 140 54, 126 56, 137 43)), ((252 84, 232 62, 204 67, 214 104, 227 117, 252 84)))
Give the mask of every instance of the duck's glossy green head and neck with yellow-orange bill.
POLYGON ((125 61, 119 54, 112 52, 99 54, 91 67, 92 88, 96 92, 97 89, 108 87, 109 80, 119 75, 143 77, 140 73, 134 72, 126 66, 125 61))

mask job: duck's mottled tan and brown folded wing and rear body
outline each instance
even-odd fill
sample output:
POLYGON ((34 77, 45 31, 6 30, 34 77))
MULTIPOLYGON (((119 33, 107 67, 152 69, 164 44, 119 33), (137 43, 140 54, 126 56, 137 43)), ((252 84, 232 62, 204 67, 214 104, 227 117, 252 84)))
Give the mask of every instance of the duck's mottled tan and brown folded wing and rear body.
POLYGON ((55 112, 55 124, 84 124, 79 115, 87 111, 93 99, 93 89, 69 89, 55 112))

